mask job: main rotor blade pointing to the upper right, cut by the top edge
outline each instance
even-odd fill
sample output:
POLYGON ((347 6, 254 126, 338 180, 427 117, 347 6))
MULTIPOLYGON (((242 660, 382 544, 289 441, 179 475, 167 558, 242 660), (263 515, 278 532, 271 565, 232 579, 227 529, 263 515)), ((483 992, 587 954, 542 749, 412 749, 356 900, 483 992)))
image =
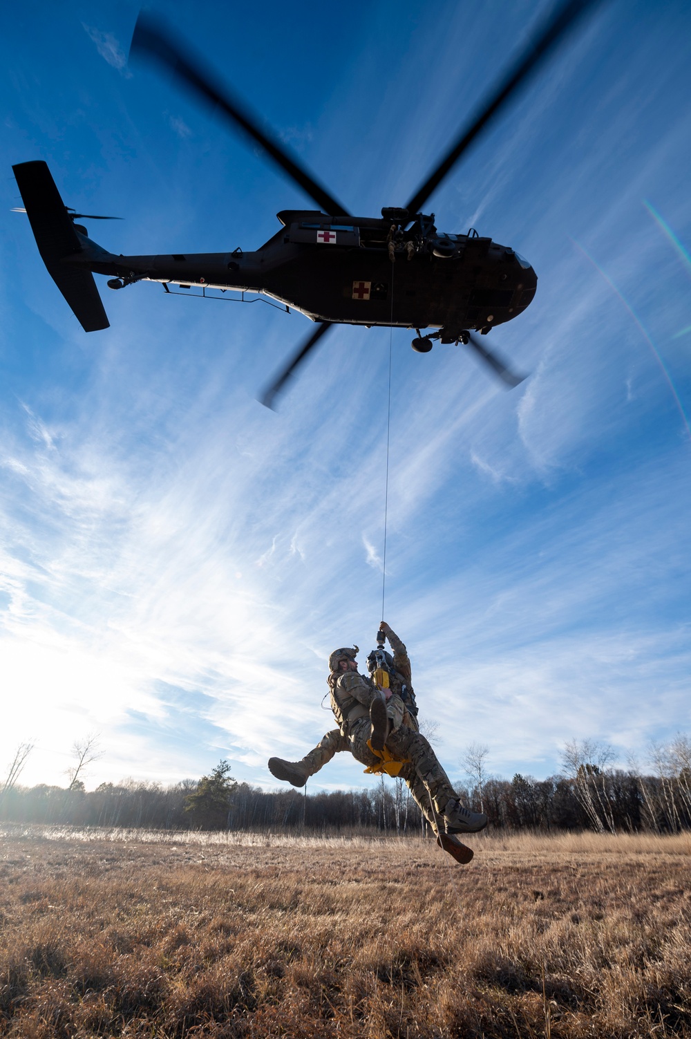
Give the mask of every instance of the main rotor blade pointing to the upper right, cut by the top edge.
POLYGON ((588 7, 599 0, 568 0, 562 4, 554 17, 547 23, 538 38, 516 61, 504 81, 498 85, 494 95, 487 100, 482 111, 475 117, 468 130, 464 130, 456 143, 447 152, 436 168, 429 175, 409 202, 405 204, 408 213, 419 213, 432 191, 438 187, 444 178, 458 162, 461 155, 473 143, 475 138, 487 126, 511 95, 523 85, 524 80, 542 61, 557 45, 564 33, 576 23, 588 7))

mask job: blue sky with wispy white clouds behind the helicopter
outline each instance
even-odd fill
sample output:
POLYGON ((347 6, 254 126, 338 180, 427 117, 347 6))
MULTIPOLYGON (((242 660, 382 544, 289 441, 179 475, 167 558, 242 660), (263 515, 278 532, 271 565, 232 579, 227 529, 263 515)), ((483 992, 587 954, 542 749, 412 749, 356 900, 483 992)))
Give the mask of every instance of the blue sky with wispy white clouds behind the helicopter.
MULTIPOLYGON (((11 163, 45 159, 114 252, 257 248, 312 204, 165 77, 127 64, 137 6, 5 18, 0 244, 0 763, 87 785, 174 781, 326 728, 326 660, 380 617, 390 334, 334 330, 278 414, 256 400, 309 331, 256 302, 114 293, 85 335, 11 163)), ((165 18, 353 212, 403 205, 549 9, 534 0, 250 5, 165 18)), ((612 0, 435 192, 448 232, 528 257, 534 302, 462 348, 393 334, 387 608, 452 777, 544 776, 565 741, 645 758, 691 728, 691 9, 612 0), (686 329, 686 330, 685 330, 686 329)), ((319 782, 371 781, 339 757, 319 782)))

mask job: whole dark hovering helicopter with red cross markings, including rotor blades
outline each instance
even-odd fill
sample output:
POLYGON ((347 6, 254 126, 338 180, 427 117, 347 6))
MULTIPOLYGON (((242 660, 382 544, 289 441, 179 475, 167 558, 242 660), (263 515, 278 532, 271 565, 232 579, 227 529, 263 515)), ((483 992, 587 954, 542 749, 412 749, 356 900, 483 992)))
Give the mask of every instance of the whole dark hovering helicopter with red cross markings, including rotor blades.
POLYGON ((69 210, 45 162, 12 167, 41 256, 85 331, 108 327, 91 272, 114 275, 111 289, 136 282, 188 288, 251 291, 271 296, 318 322, 262 398, 271 406, 297 366, 334 324, 406 327, 417 331, 413 348, 425 353, 432 341, 463 343, 503 380, 523 380, 472 330, 486 335, 511 321, 531 302, 537 275, 514 249, 468 234, 445 234, 434 214, 422 207, 527 77, 594 0, 568 0, 542 26, 470 126, 459 135, 425 182, 401 208, 380 217, 351 216, 345 207, 290 154, 275 135, 228 87, 192 58, 151 17, 140 14, 131 54, 158 61, 197 98, 259 143, 266 154, 320 207, 284 210, 281 230, 255 252, 115 256, 91 241, 76 224, 87 217, 69 210), (392 266, 396 263, 396 268, 392 266), (422 336, 421 328, 432 328, 422 336))

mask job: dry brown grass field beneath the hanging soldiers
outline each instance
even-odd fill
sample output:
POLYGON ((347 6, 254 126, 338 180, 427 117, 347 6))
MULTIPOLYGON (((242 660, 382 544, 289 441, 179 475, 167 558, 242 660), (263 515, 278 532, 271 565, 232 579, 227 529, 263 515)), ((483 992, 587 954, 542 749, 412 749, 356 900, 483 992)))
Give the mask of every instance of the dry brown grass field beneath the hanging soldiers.
POLYGON ((691 837, 5 827, 0 1034, 691 1036, 691 837))

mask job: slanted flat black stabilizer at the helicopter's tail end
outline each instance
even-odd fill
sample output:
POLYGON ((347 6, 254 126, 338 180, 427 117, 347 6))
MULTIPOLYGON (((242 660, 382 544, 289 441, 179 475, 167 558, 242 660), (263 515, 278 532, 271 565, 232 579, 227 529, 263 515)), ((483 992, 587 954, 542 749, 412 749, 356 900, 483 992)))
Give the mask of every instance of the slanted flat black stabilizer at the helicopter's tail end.
POLYGON ((82 251, 72 219, 45 162, 12 166, 38 251, 84 331, 109 326, 94 275, 85 267, 63 264, 82 251))

